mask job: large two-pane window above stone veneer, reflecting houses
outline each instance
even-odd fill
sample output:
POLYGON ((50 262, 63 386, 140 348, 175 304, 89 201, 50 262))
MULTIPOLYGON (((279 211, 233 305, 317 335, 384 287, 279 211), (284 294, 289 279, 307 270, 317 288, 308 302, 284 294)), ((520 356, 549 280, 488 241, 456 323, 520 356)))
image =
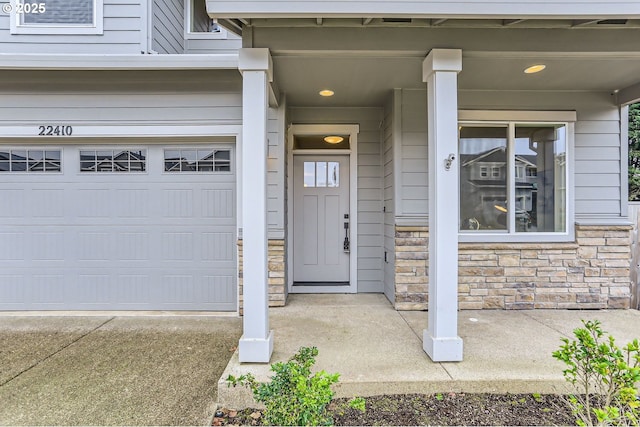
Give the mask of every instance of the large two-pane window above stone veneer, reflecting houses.
POLYGON ((567 233, 567 141, 563 123, 462 123, 460 231, 567 233))

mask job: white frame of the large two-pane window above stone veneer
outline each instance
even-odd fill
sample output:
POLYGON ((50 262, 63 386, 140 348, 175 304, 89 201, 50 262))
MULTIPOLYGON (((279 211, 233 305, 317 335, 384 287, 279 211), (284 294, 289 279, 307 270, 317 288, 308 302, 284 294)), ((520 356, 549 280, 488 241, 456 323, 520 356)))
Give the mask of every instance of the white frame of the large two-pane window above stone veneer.
POLYGON ((484 111, 484 110, 460 110, 458 112, 460 126, 507 126, 509 135, 507 142, 507 191, 509 192, 510 212, 515 212, 515 185, 512 185, 515 177, 515 158, 513 156, 515 144, 515 126, 529 124, 558 124, 565 125, 567 144, 567 168, 566 168, 566 223, 564 232, 516 232, 515 216, 509 217, 506 231, 465 231, 458 232, 460 242, 487 242, 487 243, 517 243, 517 242, 570 242, 575 241, 575 210, 574 210, 574 145, 575 145, 575 111, 484 111))

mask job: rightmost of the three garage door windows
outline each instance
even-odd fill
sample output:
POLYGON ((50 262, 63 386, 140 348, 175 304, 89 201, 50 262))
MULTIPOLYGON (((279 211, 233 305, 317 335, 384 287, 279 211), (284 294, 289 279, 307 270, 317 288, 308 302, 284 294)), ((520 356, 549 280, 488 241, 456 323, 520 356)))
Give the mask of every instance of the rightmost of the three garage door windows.
POLYGON ((231 172, 231 150, 164 150, 165 172, 231 172))

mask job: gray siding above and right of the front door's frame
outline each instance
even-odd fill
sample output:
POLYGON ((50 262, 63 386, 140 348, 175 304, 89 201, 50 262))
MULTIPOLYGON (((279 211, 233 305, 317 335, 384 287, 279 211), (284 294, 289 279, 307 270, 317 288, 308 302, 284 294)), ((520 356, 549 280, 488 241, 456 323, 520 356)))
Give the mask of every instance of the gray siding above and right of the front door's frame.
MULTIPOLYGON (((359 124, 358 292, 383 292, 382 108, 292 108, 294 124, 359 124)), ((352 260, 353 261, 353 260, 352 260)))

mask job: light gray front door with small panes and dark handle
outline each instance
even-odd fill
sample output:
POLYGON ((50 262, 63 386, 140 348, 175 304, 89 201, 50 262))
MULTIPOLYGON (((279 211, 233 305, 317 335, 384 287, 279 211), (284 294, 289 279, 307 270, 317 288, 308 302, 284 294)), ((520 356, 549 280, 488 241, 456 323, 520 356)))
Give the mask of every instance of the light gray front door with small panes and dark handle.
POLYGON ((294 286, 348 286, 349 156, 294 156, 294 286))

